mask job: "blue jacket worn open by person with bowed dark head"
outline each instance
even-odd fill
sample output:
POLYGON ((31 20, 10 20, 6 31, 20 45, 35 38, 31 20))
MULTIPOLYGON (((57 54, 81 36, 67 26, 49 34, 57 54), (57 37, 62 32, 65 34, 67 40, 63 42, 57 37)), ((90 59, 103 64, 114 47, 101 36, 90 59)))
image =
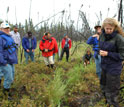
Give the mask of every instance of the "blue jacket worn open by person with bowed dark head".
POLYGON ((22 39, 22 46, 24 48, 24 50, 27 50, 27 49, 36 49, 37 47, 37 41, 36 41, 36 38, 35 37, 32 37, 31 39, 31 43, 32 43, 32 47, 29 48, 29 38, 28 36, 25 36, 23 39, 22 39))

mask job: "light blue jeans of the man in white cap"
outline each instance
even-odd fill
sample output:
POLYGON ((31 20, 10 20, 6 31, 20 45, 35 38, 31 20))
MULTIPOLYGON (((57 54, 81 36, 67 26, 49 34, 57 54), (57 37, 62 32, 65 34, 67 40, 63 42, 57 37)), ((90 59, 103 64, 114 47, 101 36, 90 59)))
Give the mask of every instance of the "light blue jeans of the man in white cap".
POLYGON ((6 66, 0 66, 0 79, 4 77, 3 86, 5 89, 9 89, 15 75, 14 65, 7 64, 6 66))

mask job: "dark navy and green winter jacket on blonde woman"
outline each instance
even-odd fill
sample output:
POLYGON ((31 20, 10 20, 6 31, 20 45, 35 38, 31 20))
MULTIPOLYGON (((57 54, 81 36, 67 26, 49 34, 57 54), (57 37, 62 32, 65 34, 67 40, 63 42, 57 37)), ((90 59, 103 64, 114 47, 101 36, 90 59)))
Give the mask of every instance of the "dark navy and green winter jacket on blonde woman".
POLYGON ((101 68, 114 75, 121 74, 124 60, 124 37, 117 32, 111 35, 103 32, 99 45, 100 50, 108 51, 108 56, 101 57, 101 68))

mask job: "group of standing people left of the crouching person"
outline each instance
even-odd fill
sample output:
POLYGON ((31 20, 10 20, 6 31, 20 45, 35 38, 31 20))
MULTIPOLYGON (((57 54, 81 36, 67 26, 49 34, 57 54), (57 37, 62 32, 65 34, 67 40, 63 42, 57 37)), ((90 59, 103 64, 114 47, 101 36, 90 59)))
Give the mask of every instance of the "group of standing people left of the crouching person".
MULTIPOLYGON (((18 26, 14 26, 13 31, 10 32, 10 25, 3 22, 0 26, 0 86, 3 82, 3 93, 11 99, 10 88, 14 81, 15 64, 18 64, 18 48, 21 45, 21 37, 18 32, 18 26)), ((36 37, 33 36, 31 31, 22 39, 22 47, 24 49, 25 62, 28 64, 29 57, 34 62, 34 52, 37 48, 36 37)), ((42 37, 39 48, 42 51, 42 56, 46 66, 54 68, 54 57, 58 53, 57 41, 52 37, 51 33, 46 32, 42 37)), ((64 52, 66 52, 66 60, 69 59, 69 49, 71 48, 71 40, 68 35, 65 34, 62 40, 62 54, 60 60, 63 58, 64 52)))

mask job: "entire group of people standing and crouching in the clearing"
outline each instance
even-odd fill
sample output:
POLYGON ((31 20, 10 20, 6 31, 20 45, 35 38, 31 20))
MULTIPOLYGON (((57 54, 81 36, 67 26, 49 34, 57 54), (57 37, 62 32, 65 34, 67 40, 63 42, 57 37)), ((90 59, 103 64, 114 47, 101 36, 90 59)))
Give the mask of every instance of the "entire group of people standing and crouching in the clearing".
MULTIPOLYGON (((89 37, 87 43, 93 45, 94 59, 96 64, 96 74, 100 80, 100 87, 110 107, 119 107, 118 96, 120 88, 120 75, 122 71, 122 61, 124 60, 124 32, 119 22, 113 18, 106 18, 102 26, 95 26, 96 34, 89 37)), ((14 64, 18 63, 18 47, 21 44, 21 38, 18 33, 18 27, 10 32, 8 23, 2 23, 0 29, 0 83, 4 77, 4 93, 9 92, 14 80, 14 64)), ((66 61, 69 60, 69 50, 71 48, 71 39, 64 34, 61 46, 62 52, 59 60, 62 60, 66 52, 66 61)), ((29 31, 22 39, 26 63, 29 57, 34 59, 34 52, 37 48, 36 37, 29 31)), ((53 69, 55 54, 58 53, 56 39, 50 32, 45 32, 41 38, 39 49, 46 66, 53 69)), ((83 57, 84 64, 90 63, 92 54, 87 50, 83 57)))

